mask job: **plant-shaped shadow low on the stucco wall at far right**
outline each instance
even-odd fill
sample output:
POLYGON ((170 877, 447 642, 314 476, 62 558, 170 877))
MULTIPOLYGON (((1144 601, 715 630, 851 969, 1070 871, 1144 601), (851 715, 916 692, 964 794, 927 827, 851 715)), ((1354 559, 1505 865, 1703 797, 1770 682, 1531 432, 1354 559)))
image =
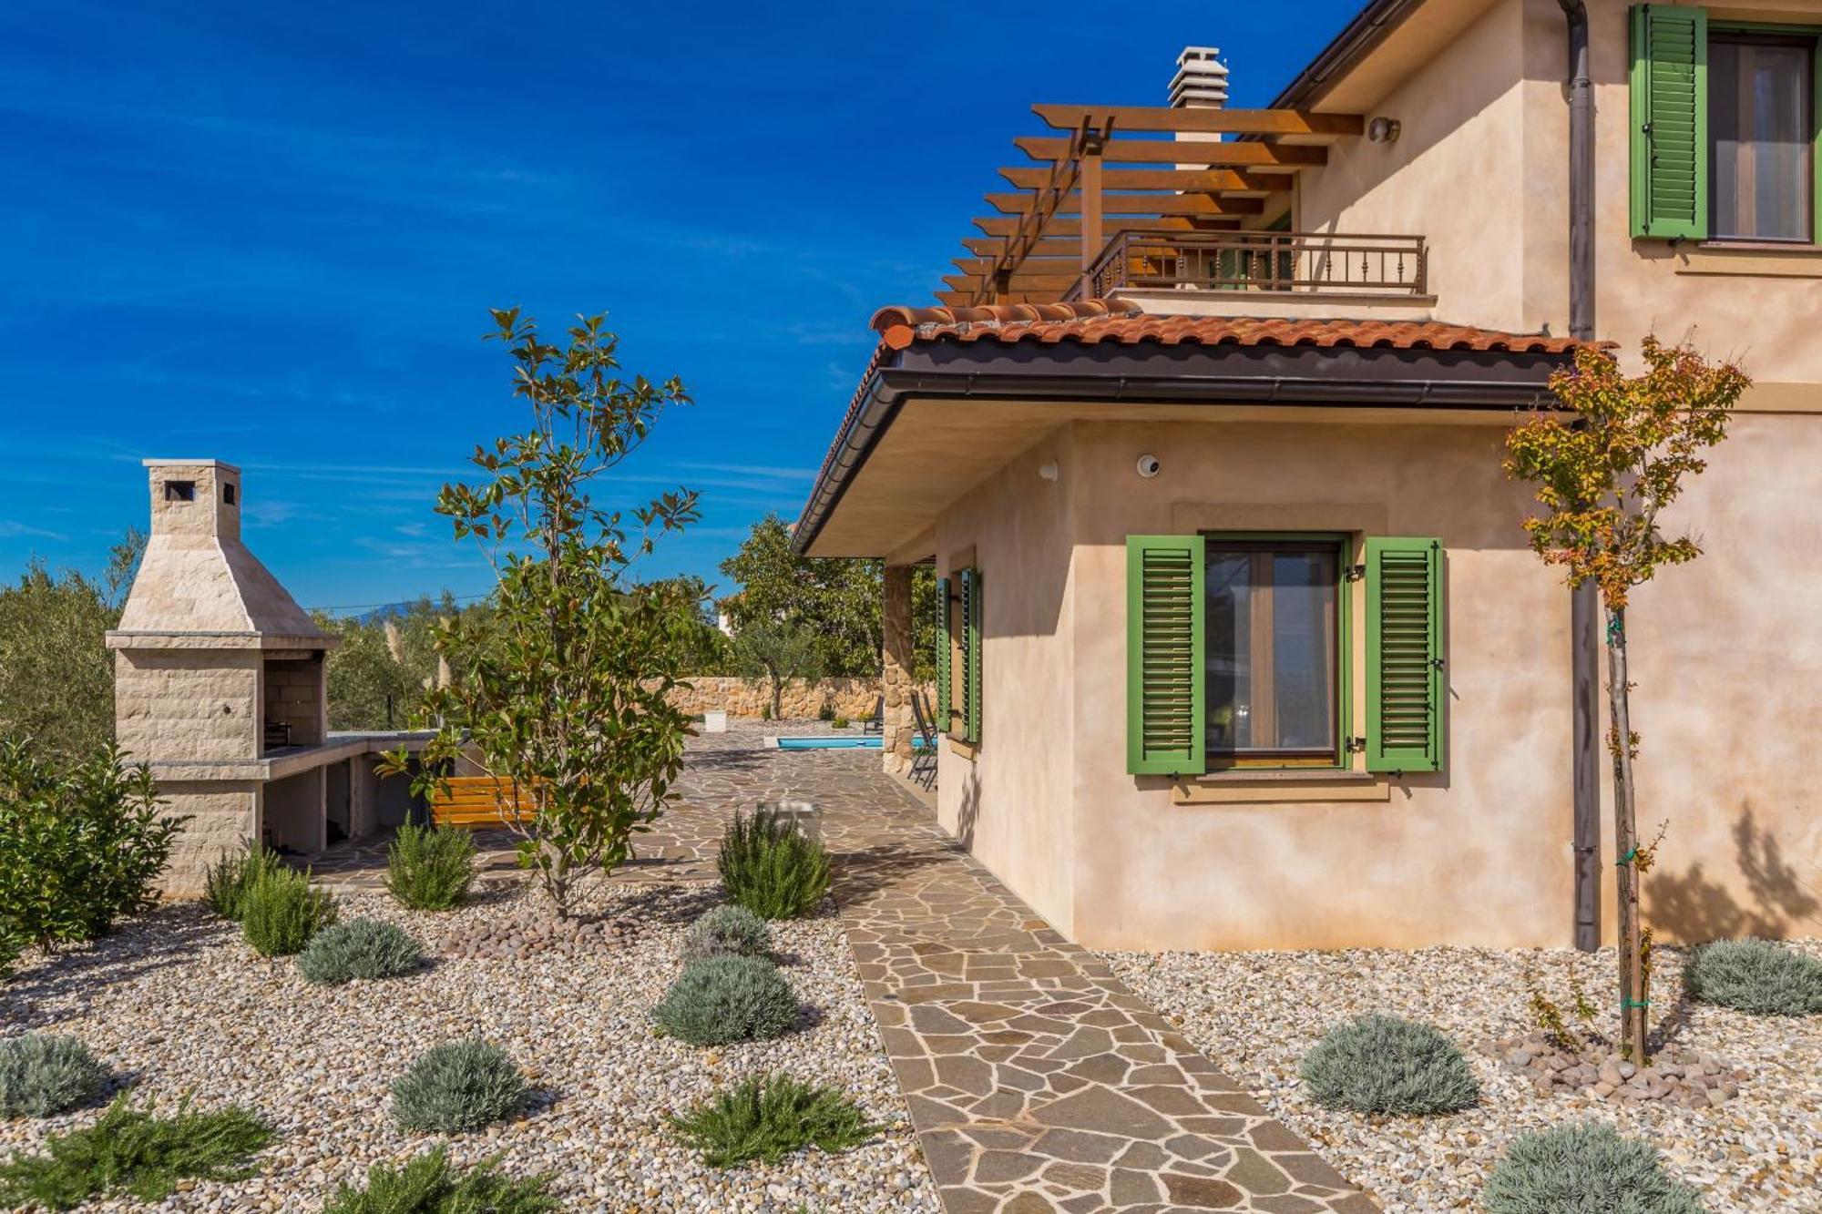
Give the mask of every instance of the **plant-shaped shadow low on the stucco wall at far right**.
POLYGON ((1711 880, 1696 860, 1680 873, 1660 871, 1645 879, 1645 921, 1691 944, 1740 935, 1804 935, 1806 928, 1815 931, 1822 924, 1817 884, 1786 862, 1778 838, 1753 820, 1751 804, 1742 804, 1735 818, 1733 848, 1751 906, 1711 880))

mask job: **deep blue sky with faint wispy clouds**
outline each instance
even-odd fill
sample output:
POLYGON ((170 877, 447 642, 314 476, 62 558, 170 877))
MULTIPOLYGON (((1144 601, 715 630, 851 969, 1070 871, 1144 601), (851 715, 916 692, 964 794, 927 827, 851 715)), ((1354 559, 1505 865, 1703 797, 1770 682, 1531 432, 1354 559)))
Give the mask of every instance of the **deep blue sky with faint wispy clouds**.
POLYGON ((485 591, 430 510, 521 423, 486 308, 607 312, 681 376, 647 576, 794 518, 871 350, 1004 190, 1037 100, 1161 104, 1213 44, 1264 104, 1356 0, 0 7, 0 576, 98 569, 144 456, 246 470, 299 602, 485 591), (1124 20, 1122 13, 1131 15, 1124 20))

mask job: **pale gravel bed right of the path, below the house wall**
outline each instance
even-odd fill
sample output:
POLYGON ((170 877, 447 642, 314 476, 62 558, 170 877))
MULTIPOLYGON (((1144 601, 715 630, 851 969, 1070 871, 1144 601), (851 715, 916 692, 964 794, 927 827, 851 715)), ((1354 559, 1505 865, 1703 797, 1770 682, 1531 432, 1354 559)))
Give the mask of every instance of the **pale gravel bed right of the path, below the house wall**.
MULTIPOLYGON (((1822 941, 1796 948, 1822 957, 1822 941)), ((1285 953, 1110 953, 1108 962, 1184 1035, 1206 1050, 1290 1128, 1394 1212, 1474 1210, 1487 1170, 1518 1134, 1602 1119, 1647 1137, 1667 1167, 1705 1192, 1711 1214, 1822 1212, 1822 1017, 1751 1017, 1711 1006, 1673 1013, 1676 1048, 1713 1052, 1747 1077, 1720 1108, 1616 1106, 1583 1096, 1541 1097, 1481 1044, 1530 1030, 1525 970, 1560 1004, 1574 966, 1596 1003, 1616 988, 1614 953, 1571 950, 1285 953), (1310 1103, 1297 1063, 1337 1021, 1388 1012, 1456 1037, 1481 1085, 1481 1103, 1447 1117, 1361 1117, 1310 1103)), ((1658 952, 1653 999, 1676 1008, 1682 953, 1658 952)), ((1618 1017, 1598 1024, 1614 1034, 1618 1017)))

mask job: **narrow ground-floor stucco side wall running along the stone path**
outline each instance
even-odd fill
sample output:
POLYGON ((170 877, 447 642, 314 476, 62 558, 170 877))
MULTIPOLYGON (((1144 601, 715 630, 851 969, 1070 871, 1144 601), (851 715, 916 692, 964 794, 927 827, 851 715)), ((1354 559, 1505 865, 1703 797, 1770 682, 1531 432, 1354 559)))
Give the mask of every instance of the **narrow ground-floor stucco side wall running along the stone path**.
POLYGON ((938 746, 938 817, 1060 931, 1075 921, 1070 609, 1075 443, 1042 439, 942 516, 937 571, 982 576, 980 747, 938 746), (1059 479, 1039 468, 1057 461, 1059 479), (971 556, 969 556, 971 554, 971 556))

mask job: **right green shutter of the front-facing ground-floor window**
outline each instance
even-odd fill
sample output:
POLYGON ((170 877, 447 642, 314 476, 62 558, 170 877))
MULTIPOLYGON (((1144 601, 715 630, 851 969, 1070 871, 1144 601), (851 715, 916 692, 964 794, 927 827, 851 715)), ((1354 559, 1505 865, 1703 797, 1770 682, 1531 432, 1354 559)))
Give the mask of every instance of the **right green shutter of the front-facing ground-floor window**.
POLYGON ((1441 771, 1443 543, 1366 538, 1366 771, 1441 771))

